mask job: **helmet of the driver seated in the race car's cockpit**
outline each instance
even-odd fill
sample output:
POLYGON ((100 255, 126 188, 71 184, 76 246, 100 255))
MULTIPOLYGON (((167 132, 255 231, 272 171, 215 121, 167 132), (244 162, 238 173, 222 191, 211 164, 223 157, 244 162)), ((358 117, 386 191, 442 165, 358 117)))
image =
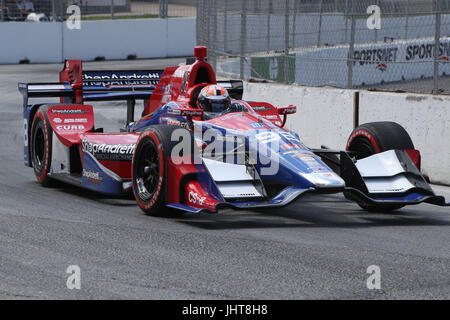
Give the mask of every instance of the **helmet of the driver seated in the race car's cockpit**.
POLYGON ((197 105, 205 113, 219 115, 230 106, 231 98, 227 89, 218 85, 208 85, 200 91, 197 105))

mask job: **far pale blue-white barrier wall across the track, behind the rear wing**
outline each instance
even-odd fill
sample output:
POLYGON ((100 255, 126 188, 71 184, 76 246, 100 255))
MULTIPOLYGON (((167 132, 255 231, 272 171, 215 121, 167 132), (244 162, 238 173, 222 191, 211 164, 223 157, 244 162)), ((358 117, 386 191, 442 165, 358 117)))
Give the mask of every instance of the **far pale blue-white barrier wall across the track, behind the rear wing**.
POLYGON ((79 30, 59 22, 1 23, 0 39, 5 64, 185 56, 196 43, 195 18, 82 21, 79 30))

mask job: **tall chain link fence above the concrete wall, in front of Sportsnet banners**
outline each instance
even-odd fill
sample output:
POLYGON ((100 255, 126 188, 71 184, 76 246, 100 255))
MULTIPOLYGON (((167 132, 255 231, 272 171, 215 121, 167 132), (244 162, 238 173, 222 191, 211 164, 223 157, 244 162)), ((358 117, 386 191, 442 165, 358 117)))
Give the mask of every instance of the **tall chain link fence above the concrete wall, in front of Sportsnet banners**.
POLYGON ((450 0, 198 0, 219 74, 450 94, 450 0))

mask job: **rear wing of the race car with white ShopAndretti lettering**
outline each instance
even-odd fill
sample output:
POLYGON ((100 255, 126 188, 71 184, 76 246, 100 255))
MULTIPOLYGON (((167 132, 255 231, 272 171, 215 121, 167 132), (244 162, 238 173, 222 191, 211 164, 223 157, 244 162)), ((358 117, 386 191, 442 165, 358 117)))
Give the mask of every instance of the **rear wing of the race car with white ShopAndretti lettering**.
POLYGON ((127 122, 134 118, 136 100, 149 99, 164 70, 83 71, 81 60, 66 60, 60 82, 19 83, 23 107, 32 97, 59 97, 61 103, 86 101, 127 101, 127 122))

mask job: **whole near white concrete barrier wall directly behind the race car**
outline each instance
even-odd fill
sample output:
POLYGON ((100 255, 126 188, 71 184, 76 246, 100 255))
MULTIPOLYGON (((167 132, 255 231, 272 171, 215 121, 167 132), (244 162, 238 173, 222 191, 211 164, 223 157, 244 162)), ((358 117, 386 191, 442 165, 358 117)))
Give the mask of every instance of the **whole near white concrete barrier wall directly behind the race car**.
MULTIPOLYGON (((311 148, 344 149, 353 130, 355 90, 245 83, 244 99, 297 105, 287 126, 311 148)), ((422 154, 433 183, 450 185, 450 96, 360 91, 359 123, 395 121, 422 154)))

